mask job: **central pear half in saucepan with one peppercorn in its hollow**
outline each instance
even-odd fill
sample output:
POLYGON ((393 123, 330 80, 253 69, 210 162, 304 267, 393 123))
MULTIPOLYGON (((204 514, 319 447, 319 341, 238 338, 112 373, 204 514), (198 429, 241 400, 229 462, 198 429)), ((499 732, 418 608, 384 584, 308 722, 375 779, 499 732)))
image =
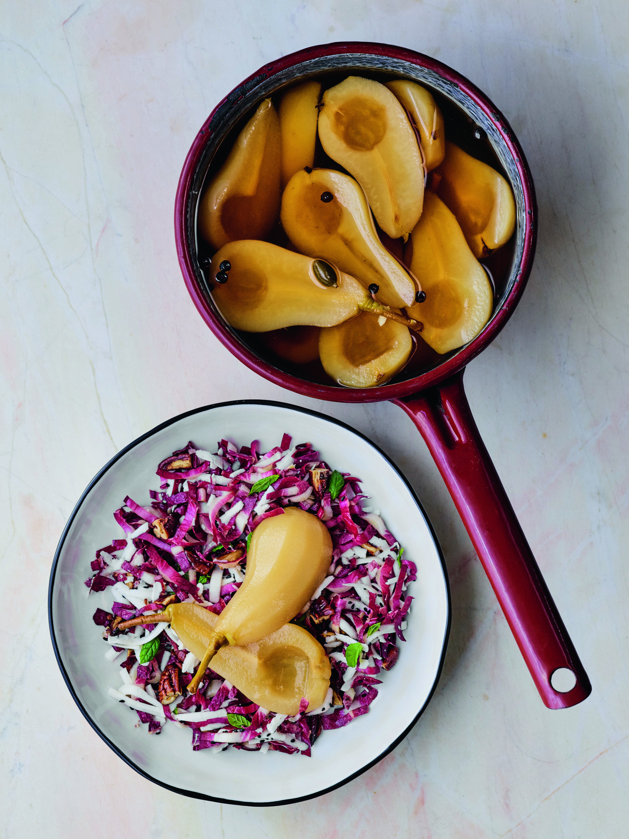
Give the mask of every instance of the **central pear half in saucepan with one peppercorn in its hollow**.
POLYGON ((385 305, 413 304, 413 281, 382 247, 365 194, 353 178, 333 169, 302 169, 283 192, 280 217, 300 253, 334 263, 365 288, 376 283, 376 299, 385 305), (329 197, 326 193, 331 201, 321 200, 329 197))

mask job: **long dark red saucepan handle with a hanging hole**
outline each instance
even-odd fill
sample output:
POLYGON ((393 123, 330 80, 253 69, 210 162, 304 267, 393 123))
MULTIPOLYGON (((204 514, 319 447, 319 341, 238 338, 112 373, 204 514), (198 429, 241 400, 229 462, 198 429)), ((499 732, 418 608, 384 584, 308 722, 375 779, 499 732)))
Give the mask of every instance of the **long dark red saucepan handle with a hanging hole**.
POLYGON ((569 708, 590 696, 590 680, 478 433, 465 398, 463 373, 439 387, 392 401, 424 437, 544 705, 569 708), (550 681, 559 668, 572 670, 576 677, 565 693, 550 681))

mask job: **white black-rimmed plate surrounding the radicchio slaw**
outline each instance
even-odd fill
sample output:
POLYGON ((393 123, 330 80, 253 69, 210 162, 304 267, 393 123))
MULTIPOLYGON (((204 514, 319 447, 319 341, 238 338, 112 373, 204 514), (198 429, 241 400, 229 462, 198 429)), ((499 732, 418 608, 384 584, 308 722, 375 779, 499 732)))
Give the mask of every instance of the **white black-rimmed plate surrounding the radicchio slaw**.
MULTIPOLYGON (((107 601, 108 603, 108 601, 107 601)), ((231 804, 289 804, 329 792, 377 763, 408 734, 439 680, 450 633, 450 589, 443 556, 421 504, 403 475, 377 446, 336 420, 275 402, 210 405, 159 425, 112 458, 76 505, 55 554, 49 586, 49 623, 65 682, 91 727, 145 778, 174 792, 231 804), (86 597, 95 551, 119 535, 112 513, 128 494, 138 503, 159 489, 159 461, 194 440, 216 451, 228 437, 239 446, 260 440, 261 451, 283 432, 309 441, 341 472, 362 478, 388 528, 417 565, 409 586, 406 643, 395 667, 382 676, 369 712, 335 731, 324 731, 311 758, 237 749, 193 752, 190 732, 166 724, 158 736, 136 728, 137 715, 107 695, 120 683, 119 667, 104 657, 101 629, 92 615, 101 595, 86 597)))

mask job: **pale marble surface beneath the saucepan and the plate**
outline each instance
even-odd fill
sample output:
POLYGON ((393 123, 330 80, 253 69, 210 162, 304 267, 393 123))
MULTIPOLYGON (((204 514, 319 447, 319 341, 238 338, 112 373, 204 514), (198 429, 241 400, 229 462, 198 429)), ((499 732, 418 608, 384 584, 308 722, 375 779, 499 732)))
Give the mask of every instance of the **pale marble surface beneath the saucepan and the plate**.
POLYGON ((2 836, 627 835, 628 10, 5 0, 2 836), (594 687, 569 711, 539 700, 410 420, 391 404, 318 404, 264 382, 185 292, 172 208, 200 123, 259 65, 340 39, 402 44, 469 76, 533 169, 533 274, 466 384, 594 687), (65 689, 45 607, 61 529, 100 466, 162 420, 234 398, 307 404, 376 440, 424 501, 454 602, 444 675, 409 737, 345 788, 268 810, 187 800, 128 769, 65 689))

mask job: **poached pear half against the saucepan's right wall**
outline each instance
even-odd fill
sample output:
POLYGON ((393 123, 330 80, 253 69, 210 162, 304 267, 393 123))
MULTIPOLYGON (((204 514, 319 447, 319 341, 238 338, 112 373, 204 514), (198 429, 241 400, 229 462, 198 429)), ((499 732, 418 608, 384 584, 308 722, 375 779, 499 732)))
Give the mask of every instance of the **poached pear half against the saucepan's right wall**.
POLYGON ((516 202, 511 186, 496 169, 445 143, 437 194, 455 214, 476 258, 489 256, 512 237, 516 202))

